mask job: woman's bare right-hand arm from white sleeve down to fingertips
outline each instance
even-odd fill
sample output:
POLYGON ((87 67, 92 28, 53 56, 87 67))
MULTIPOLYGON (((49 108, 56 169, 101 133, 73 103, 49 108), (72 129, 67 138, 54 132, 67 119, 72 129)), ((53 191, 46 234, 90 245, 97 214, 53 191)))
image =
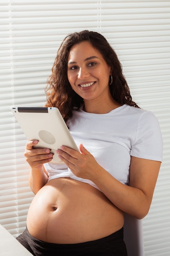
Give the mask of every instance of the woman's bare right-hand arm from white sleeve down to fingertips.
POLYGON ((116 207, 136 218, 144 218, 150 208, 161 162, 131 157, 130 186, 127 186, 99 166, 82 145, 80 151, 82 154, 62 146, 57 153, 77 177, 93 181, 116 207))

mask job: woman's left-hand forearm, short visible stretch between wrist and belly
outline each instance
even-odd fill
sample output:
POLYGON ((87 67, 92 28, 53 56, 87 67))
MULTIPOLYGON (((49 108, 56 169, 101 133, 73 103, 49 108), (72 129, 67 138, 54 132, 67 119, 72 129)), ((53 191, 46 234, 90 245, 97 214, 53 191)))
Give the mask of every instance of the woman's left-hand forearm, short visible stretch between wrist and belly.
POLYGON ((31 168, 29 173, 29 186, 34 194, 36 194, 48 181, 48 176, 44 172, 43 167, 41 169, 31 168))

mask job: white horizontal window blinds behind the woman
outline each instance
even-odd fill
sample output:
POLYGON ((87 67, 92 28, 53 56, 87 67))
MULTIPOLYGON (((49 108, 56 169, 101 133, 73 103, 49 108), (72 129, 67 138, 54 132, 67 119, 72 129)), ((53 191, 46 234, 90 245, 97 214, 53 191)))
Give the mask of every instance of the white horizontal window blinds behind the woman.
POLYGON ((146 256, 169 256, 169 0, 1 0, 0 17, 0 224, 18 236, 33 199, 23 155, 26 137, 10 107, 43 106, 62 39, 94 30, 116 50, 134 101, 154 112, 161 126, 163 163, 143 220, 144 245, 146 256))

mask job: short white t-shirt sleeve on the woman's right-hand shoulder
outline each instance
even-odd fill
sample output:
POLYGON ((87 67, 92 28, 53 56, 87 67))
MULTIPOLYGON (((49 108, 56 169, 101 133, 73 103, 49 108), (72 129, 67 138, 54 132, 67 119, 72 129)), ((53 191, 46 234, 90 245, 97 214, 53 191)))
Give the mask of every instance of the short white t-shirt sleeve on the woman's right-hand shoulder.
POLYGON ((159 123, 152 112, 140 117, 130 155, 162 162, 163 141, 159 123))

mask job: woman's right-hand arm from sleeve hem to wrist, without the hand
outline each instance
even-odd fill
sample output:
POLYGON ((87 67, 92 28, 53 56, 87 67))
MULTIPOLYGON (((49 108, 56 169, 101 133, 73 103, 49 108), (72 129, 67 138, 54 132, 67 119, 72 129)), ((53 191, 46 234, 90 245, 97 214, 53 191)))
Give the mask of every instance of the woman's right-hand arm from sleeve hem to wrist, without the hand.
POLYGON ((160 162, 131 158, 130 186, 102 170, 93 182, 122 211, 142 219, 149 211, 159 173, 160 162), (109 177, 110 176, 110 177, 109 177))

